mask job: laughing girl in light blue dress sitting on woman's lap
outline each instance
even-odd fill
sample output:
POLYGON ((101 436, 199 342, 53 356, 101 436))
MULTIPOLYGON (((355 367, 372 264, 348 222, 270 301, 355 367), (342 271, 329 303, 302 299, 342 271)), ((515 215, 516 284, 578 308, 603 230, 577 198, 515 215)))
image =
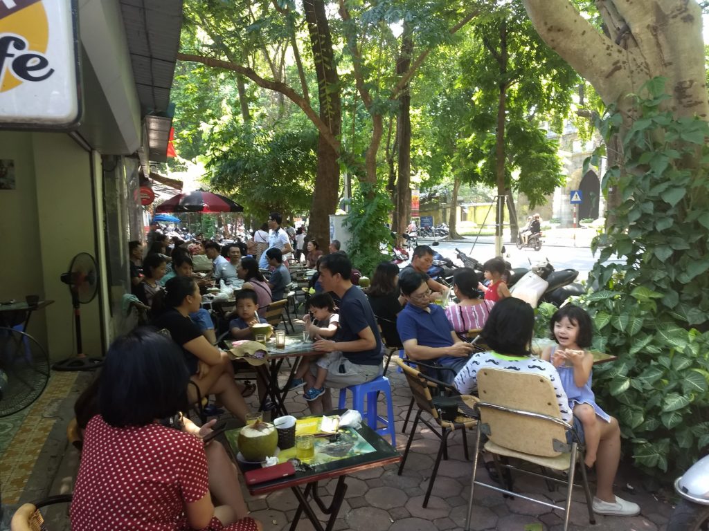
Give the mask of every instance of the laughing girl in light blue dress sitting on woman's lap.
POLYGON ((584 309, 566 305, 554 313, 549 328, 559 346, 545 348, 542 359, 557 367, 569 408, 584 426, 585 461, 587 467, 592 467, 601 441, 600 423, 609 423, 610 415, 596 404, 591 390, 593 354, 585 350, 593 337, 591 317, 584 309))

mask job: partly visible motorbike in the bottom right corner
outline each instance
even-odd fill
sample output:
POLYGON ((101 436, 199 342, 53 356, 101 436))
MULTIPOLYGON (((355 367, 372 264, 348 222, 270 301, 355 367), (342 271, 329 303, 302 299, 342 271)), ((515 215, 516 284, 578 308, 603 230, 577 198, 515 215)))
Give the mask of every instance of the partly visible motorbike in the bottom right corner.
POLYGON ((699 459, 674 482, 681 500, 667 522, 667 531, 709 529, 709 455, 699 459))

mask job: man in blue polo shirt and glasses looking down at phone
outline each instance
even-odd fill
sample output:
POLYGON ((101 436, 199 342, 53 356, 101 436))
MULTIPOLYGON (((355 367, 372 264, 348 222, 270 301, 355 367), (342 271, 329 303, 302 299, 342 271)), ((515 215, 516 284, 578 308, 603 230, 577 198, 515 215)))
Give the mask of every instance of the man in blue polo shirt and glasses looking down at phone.
POLYGON ((441 379, 452 382, 468 360, 473 347, 461 341, 437 304, 430 304, 427 275, 411 272, 399 278, 406 306, 396 318, 396 329, 406 355, 411 360, 436 362, 450 370, 438 371, 441 379))

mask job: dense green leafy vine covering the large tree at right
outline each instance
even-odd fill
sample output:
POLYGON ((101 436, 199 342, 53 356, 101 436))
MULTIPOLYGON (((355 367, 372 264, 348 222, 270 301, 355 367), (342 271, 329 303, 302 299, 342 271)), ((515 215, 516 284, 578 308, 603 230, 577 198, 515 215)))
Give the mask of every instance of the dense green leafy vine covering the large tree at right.
MULTIPOLYGON (((591 273, 599 291, 581 304, 597 328, 593 348, 618 355, 594 368, 593 389, 635 464, 667 477, 709 444, 709 127, 663 108, 664 79, 632 97, 623 164, 603 177, 623 202, 593 242, 594 253, 603 246, 591 273), (624 262, 604 263, 613 254, 624 262)), ((598 127, 608 139, 622 124, 608 108, 598 127)))

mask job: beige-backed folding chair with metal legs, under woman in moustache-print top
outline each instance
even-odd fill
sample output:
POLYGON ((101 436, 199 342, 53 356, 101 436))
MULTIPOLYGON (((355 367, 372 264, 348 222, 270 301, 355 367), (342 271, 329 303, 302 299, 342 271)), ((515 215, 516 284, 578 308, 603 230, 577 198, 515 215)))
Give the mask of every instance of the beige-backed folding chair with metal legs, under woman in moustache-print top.
MULTIPOLYGON (((571 509, 571 491, 574 489, 574 473, 576 463, 581 464, 581 478, 583 479, 586 505, 588 506, 588 521, 595 524, 593 506, 591 505, 591 491, 588 489, 586 467, 584 466, 584 448, 579 445, 576 430, 569 423, 562 421, 559 412, 557 395, 554 386, 547 378, 531 372, 513 372, 510 370, 483 368, 478 371, 478 394, 480 401, 475 404, 479 411, 480 423, 475 442, 475 457, 473 461, 473 475, 471 478, 470 501, 465 529, 470 529, 470 515, 473 508, 473 494, 476 485, 486 486, 488 489, 518 496, 527 501, 540 503, 554 509, 564 510, 564 531, 569 527, 571 509), (566 435, 571 434, 571 444, 567 442, 566 435), (476 479, 479 452, 482 450, 481 436, 486 435, 488 440, 484 443, 486 452, 493 455, 495 466, 500 474, 502 469, 518 470, 549 481, 567 485, 566 501, 564 507, 555 503, 537 500, 530 496, 523 496, 501 486, 484 483, 476 479), (568 481, 559 479, 549 474, 539 474, 530 470, 514 467, 503 463, 499 456, 506 458, 522 459, 545 469, 565 472, 568 481)), ((501 476, 501 474, 500 474, 501 476)), ((502 476, 501 476, 502 477, 502 476)), ((511 481, 510 481, 511 483, 511 481)))

